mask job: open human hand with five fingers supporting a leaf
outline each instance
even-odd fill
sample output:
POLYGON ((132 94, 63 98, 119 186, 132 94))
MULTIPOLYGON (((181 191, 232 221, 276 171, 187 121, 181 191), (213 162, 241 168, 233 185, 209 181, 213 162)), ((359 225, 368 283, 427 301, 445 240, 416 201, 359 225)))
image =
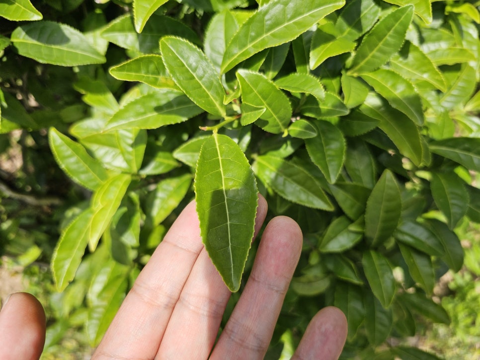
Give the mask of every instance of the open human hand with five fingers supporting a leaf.
MULTIPOLYGON (((260 197, 255 233, 266 210, 260 197)), ((301 248, 295 221, 278 216, 268 223, 240 300, 215 344, 231 293, 205 251, 190 203, 138 276, 92 359, 263 359, 301 248)), ((293 359, 338 359, 346 333, 343 313, 324 308, 293 359)), ((0 312, 0 334, 0 359, 38 359, 45 339, 38 300, 13 294, 0 312)))

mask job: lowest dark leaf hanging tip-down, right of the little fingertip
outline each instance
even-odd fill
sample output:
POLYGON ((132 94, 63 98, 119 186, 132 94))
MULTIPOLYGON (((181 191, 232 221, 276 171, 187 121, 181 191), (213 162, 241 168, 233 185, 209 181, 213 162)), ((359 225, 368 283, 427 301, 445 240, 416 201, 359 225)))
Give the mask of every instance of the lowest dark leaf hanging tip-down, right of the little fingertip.
POLYGON ((393 327, 392 309, 386 309, 368 291, 365 294, 365 330, 371 345, 379 346, 390 336, 393 327))

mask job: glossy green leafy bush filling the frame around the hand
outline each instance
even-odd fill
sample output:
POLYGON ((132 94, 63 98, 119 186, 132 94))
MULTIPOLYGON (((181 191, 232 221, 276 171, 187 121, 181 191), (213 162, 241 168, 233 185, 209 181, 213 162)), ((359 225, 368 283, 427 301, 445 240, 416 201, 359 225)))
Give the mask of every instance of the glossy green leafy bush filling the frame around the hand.
POLYGON ((48 138, 53 156, 42 153, 44 166, 26 157, 38 172, 19 184, 2 169, 0 190, 47 196, 48 169, 62 205, 44 206, 64 213, 49 225, 58 241, 37 245, 31 231, 13 246, 25 226, 10 199, 0 203, 4 251, 42 256, 62 291, 48 346, 72 314, 99 342, 193 197, 213 263, 241 291, 260 192, 269 217, 293 217, 305 237, 269 356, 331 304, 348 319, 343 358, 435 359, 379 349, 413 336, 422 317, 449 323, 433 288, 462 267, 454 229, 480 222, 477 5, 1 4, 0 153, 20 133, 43 147, 48 138))

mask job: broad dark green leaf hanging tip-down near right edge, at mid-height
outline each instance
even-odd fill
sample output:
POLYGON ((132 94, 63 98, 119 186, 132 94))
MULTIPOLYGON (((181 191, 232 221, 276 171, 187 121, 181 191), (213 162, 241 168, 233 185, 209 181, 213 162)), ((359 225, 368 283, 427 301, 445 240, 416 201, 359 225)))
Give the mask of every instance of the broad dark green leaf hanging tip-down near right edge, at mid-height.
POLYGON ((447 217, 448 226, 454 229, 465 216, 469 195, 464 181, 455 173, 432 174, 430 190, 438 209, 447 217))

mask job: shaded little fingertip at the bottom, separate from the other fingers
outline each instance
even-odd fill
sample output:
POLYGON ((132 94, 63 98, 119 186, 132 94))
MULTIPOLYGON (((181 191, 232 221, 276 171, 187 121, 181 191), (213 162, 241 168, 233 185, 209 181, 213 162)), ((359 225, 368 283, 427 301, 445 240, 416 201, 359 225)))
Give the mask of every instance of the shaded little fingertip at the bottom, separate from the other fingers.
POLYGON ((337 360, 347 338, 347 319, 333 306, 321 309, 310 322, 292 360, 337 360))

